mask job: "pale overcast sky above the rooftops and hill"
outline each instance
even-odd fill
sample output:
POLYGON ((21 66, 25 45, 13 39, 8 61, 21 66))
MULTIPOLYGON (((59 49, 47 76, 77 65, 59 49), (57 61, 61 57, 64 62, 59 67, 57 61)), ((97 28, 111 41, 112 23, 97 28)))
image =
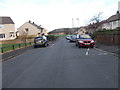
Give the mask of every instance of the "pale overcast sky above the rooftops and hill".
POLYGON ((103 20, 116 14, 119 0, 0 0, 0 16, 10 16, 19 28, 31 20, 48 31, 57 28, 88 25, 103 12, 103 20))

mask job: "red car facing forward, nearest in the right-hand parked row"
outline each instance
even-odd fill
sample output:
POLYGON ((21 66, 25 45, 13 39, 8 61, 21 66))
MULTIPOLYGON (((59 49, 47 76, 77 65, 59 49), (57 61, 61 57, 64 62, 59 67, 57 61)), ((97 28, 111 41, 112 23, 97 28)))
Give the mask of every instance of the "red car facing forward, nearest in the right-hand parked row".
POLYGON ((76 46, 80 47, 94 47, 94 40, 88 35, 83 34, 79 35, 79 38, 76 40, 76 46))

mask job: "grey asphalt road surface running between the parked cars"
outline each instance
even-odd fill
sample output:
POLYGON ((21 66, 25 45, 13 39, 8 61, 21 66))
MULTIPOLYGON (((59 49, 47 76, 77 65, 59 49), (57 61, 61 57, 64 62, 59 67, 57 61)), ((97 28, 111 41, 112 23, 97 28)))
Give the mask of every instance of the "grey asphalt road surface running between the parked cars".
POLYGON ((117 88, 118 58, 59 38, 2 64, 3 88, 117 88))

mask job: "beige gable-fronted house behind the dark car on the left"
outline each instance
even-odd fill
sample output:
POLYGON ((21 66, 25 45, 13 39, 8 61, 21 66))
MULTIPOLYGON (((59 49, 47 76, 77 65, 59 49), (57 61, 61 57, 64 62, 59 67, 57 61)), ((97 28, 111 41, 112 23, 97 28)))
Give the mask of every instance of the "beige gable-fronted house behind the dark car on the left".
POLYGON ((34 22, 28 21, 18 28, 19 36, 36 37, 45 33, 46 30, 34 22))

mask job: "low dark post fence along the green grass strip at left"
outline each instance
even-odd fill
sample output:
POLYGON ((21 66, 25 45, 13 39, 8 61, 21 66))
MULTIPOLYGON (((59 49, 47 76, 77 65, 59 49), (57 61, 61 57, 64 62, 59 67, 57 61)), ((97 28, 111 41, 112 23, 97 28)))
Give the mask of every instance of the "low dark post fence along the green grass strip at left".
POLYGON ((19 44, 11 44, 9 46, 4 46, 3 47, 0 47, 0 53, 4 53, 4 52, 7 52, 7 51, 10 51, 10 50, 15 50, 15 49, 18 49, 18 48, 21 48, 21 47, 26 47, 26 46, 30 46, 32 45, 33 42, 29 42, 29 43, 19 43, 19 44))

